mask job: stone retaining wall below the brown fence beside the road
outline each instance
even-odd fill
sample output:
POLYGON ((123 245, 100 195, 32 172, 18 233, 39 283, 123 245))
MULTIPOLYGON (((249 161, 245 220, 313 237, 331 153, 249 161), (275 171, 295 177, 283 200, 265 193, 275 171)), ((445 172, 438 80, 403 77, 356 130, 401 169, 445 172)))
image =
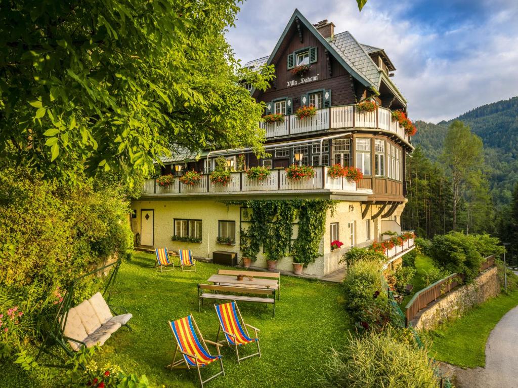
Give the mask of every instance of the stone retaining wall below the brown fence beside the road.
POLYGON ((440 323, 461 316, 476 304, 499 293, 497 268, 491 267, 475 278, 473 283, 459 287, 429 304, 412 320, 412 326, 420 330, 432 330, 440 323))

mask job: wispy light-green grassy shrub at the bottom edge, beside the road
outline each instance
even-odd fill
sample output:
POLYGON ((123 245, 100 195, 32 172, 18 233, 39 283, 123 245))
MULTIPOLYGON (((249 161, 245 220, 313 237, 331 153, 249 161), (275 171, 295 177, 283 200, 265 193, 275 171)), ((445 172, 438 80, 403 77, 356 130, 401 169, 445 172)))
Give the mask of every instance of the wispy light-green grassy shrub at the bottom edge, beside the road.
POLYGON ((393 329, 349 334, 343 350, 332 349, 323 369, 323 385, 349 388, 436 388, 434 364, 408 331, 393 329))

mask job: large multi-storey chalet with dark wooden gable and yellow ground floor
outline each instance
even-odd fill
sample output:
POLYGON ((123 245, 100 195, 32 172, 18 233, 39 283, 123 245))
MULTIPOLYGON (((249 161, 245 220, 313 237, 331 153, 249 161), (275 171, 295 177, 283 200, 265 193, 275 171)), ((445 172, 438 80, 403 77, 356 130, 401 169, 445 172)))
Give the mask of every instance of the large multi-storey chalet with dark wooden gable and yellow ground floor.
MULTIPOLYGON (((142 246, 191 249, 194 256, 206 258, 212 258, 214 251, 235 252, 240 259, 239 233, 246 229, 246 221, 240 206, 221 201, 333 199, 339 202, 334 214, 327 215, 322 256, 305 269, 327 275, 343 265, 340 257, 348 247, 381 240, 387 230, 401 232, 405 156, 413 147, 392 111, 406 113, 406 100, 390 79, 396 69, 382 48, 359 43, 348 31, 335 33, 335 25, 327 20, 311 24, 298 10, 271 54, 246 66, 258 69, 265 63, 275 65, 275 80, 265 92, 250 92, 266 103, 265 115, 284 116, 283 121, 260 123, 271 157, 258 160, 251 150, 240 149, 203 151, 197 159, 189 154, 164 159, 162 175, 195 170, 203 173, 202 179, 195 186, 176 182, 168 189, 148 179, 142 197, 133 202, 133 230, 142 246), (301 65, 309 68, 294 74, 301 65), (357 104, 362 101, 377 107, 361 112, 357 104), (299 120, 295 113, 301 106, 314 106, 316 114, 299 120), (236 171, 228 185, 212 184, 209 173, 221 156, 234 168, 244 161, 244 169, 263 165, 272 172, 263 182, 249 181, 244 172, 236 171), (287 179, 285 168, 297 163, 311 165, 314 177, 300 182, 287 179), (332 178, 327 172, 334 164, 356 167, 363 178, 357 184, 332 178), (177 239, 171 240, 172 236, 177 239), (332 251, 334 240, 343 242, 343 247, 332 251)), ((389 255, 400 256, 397 250, 389 255)), ((280 258, 277 268, 291 271, 291 262, 289 257, 280 258)), ((266 267, 264 257, 260 255, 253 266, 266 267)))

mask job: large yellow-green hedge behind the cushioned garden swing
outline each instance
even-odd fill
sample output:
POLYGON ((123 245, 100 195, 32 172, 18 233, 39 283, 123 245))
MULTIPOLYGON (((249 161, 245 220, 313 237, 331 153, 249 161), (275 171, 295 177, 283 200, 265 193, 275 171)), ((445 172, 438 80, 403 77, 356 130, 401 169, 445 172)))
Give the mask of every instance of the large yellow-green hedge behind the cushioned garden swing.
MULTIPOLYGON (((0 314, 22 312, 16 329, 0 337, 4 354, 36 336, 71 279, 108 257, 126 257, 133 248, 128 214, 117 188, 62 186, 23 169, 0 172, 0 314)), ((75 302, 102 282, 97 276, 80 282, 75 302)))

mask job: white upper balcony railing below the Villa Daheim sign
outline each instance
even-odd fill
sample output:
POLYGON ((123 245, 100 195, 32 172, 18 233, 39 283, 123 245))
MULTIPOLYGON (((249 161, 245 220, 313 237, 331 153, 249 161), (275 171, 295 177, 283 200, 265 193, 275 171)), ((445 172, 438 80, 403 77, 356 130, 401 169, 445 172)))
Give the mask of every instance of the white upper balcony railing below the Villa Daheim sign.
POLYGON ((392 132, 409 142, 409 135, 399 127, 399 122, 392 120, 391 110, 382 107, 375 112, 363 113, 357 112, 356 105, 332 106, 316 109, 313 117, 299 120, 295 115, 289 115, 283 122, 261 122, 260 127, 266 130, 267 138, 329 129, 367 128, 392 132))

